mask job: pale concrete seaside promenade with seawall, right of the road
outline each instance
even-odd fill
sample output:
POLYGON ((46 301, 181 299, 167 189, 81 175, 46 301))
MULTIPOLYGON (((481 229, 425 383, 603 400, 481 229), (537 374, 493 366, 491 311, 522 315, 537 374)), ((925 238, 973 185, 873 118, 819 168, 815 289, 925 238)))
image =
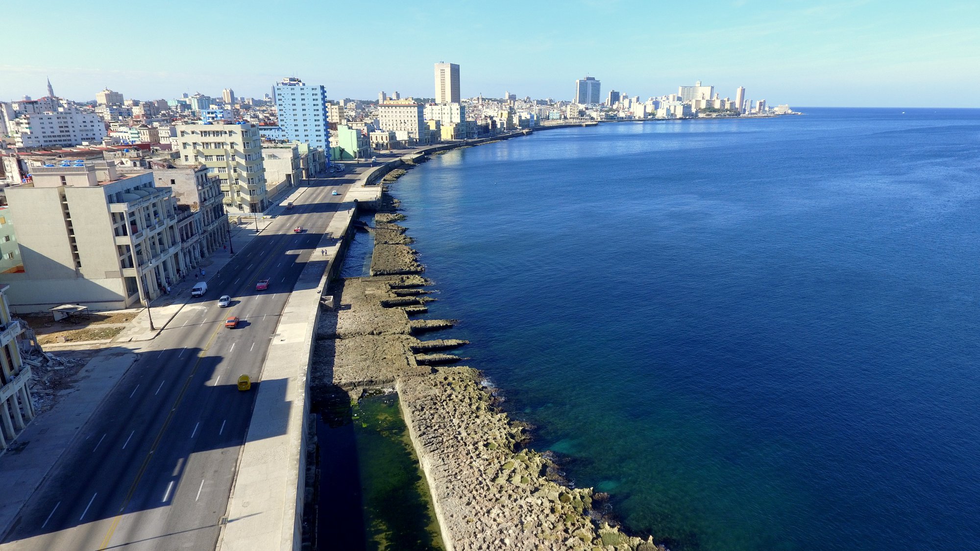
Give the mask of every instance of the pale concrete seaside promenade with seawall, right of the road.
POLYGON ((379 187, 366 190, 364 181, 347 194, 352 206, 331 219, 314 249, 325 249, 325 260, 311 257, 272 335, 218 540, 223 551, 302 546, 309 378, 320 299, 339 272, 359 204, 376 204, 374 195, 380 195, 379 187))

